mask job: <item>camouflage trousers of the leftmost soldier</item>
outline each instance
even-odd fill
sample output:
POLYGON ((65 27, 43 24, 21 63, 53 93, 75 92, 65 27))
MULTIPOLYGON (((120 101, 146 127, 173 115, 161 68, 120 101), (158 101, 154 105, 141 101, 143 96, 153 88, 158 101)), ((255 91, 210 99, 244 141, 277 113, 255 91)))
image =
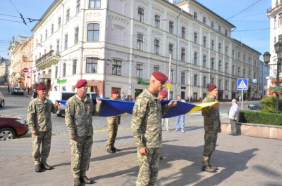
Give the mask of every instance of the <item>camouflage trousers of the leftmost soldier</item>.
POLYGON ((45 164, 51 148, 51 131, 37 132, 32 134, 32 157, 37 164, 45 164), (41 152, 40 152, 40 146, 41 152))

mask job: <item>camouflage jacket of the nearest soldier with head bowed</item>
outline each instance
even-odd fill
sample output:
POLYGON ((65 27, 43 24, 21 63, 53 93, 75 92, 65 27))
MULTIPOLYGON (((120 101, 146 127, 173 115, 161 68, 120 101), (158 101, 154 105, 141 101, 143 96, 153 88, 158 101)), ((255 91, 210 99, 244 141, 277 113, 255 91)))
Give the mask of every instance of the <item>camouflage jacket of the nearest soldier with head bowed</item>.
POLYGON ((161 106, 158 95, 147 89, 140 93, 133 107, 131 128, 137 148, 161 147, 161 116, 168 112, 168 105, 161 106))

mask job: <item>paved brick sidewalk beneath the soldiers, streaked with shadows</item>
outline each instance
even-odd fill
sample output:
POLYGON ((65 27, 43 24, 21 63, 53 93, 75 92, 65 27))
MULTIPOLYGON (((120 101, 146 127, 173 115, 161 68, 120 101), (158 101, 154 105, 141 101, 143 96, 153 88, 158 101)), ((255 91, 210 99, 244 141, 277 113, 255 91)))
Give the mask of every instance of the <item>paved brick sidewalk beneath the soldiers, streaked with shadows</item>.
MULTIPOLYGON (((220 133, 211 161, 219 171, 207 173, 201 171, 204 129, 185 129, 163 132, 158 186, 281 185, 281 140, 220 133)), ((94 185, 135 185, 138 164, 132 131, 119 128, 116 147, 123 151, 116 154, 106 152, 106 136, 107 131, 94 132, 87 177, 95 180, 94 185)), ((73 185, 69 141, 68 135, 52 136, 47 163, 55 169, 42 173, 35 172, 30 138, 0 142, 1 185, 73 185)))

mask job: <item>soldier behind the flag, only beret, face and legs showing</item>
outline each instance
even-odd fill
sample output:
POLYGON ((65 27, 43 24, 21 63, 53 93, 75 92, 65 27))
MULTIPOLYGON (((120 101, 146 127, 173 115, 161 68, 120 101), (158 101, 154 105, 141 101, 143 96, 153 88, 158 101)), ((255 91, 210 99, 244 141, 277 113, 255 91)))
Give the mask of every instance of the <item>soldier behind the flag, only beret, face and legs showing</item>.
MULTIPOLYGON (((111 91, 110 100, 118 99, 118 90, 114 89, 111 91)), ((114 147, 116 142, 116 135, 118 134, 118 125, 121 124, 121 116, 107 117, 106 121, 108 122, 108 140, 106 141, 106 151, 109 153, 120 152, 120 149, 114 147)))

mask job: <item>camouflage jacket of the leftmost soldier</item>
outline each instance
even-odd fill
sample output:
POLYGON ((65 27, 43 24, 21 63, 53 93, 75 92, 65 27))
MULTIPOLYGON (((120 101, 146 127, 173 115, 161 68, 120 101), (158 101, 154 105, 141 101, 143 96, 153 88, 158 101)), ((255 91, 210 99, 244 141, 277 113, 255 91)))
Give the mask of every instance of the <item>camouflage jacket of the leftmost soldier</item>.
POLYGON ((27 123, 30 131, 52 131, 51 112, 56 114, 58 107, 55 107, 49 99, 44 101, 35 98, 30 101, 27 108, 27 123))

